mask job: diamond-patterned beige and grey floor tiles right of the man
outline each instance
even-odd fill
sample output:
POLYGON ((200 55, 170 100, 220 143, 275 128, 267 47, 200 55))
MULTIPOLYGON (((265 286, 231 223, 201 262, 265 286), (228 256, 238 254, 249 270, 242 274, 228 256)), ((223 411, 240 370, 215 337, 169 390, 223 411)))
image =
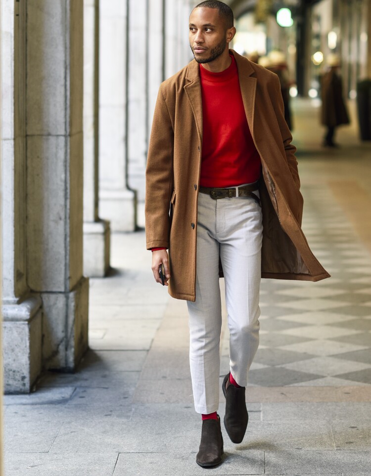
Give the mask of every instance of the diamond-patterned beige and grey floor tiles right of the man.
POLYGON ((331 278, 262 280, 249 385, 371 385, 370 253, 327 189, 311 185, 303 195, 304 232, 331 278))

